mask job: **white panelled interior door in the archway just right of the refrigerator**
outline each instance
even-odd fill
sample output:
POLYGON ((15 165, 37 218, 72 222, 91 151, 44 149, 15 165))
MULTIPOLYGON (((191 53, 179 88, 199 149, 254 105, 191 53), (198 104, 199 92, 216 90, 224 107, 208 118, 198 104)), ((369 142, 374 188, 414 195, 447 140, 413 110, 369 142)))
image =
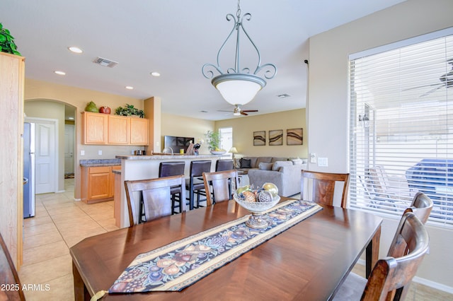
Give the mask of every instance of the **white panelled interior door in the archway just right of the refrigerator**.
POLYGON ((56 191, 57 120, 26 119, 35 123, 35 194, 56 191))

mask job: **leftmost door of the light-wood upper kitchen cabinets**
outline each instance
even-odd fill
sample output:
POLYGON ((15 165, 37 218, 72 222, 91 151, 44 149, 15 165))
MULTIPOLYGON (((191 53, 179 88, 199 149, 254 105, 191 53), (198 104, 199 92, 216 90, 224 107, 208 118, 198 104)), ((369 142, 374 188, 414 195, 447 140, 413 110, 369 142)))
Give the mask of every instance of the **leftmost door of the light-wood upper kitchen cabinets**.
POLYGON ((82 112, 83 143, 108 143, 108 114, 82 112))

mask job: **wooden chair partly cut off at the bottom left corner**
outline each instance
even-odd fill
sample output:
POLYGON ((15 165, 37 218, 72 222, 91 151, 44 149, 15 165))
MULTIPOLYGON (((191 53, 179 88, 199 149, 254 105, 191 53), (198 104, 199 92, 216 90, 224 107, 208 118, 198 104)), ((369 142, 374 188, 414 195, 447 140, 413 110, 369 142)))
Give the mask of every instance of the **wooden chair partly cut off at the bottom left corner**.
POLYGON ((25 300, 16 267, 1 234, 0 246, 0 300, 25 300))

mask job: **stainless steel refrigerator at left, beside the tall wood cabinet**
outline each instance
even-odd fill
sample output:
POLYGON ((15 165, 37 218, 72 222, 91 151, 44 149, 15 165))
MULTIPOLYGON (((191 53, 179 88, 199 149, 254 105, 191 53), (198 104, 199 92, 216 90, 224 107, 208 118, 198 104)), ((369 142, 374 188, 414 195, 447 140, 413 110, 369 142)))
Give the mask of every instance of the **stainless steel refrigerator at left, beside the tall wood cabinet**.
POLYGON ((23 217, 35 216, 35 124, 23 124, 23 217))

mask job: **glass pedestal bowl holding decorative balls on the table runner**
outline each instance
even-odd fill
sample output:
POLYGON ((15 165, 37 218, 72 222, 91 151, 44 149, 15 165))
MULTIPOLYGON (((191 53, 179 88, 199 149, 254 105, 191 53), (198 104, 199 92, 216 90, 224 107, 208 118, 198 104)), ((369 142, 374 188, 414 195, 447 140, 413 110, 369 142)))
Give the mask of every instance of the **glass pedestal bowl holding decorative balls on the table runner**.
POLYGON ((246 201, 237 194, 234 194, 234 201, 252 213, 246 221, 246 225, 248 227, 254 229, 268 227, 269 223, 263 212, 273 208, 273 206, 280 201, 280 196, 273 196, 272 194, 269 195, 271 197, 270 201, 246 201))

